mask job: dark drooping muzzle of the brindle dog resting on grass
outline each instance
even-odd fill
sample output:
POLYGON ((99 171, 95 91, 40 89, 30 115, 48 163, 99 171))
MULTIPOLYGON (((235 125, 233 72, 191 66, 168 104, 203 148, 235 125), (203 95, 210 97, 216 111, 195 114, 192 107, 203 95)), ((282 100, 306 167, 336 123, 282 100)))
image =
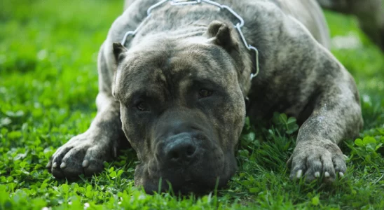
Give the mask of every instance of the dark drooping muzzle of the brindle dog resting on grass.
POLYGON ((196 123, 165 123, 153 146, 149 179, 161 179, 180 192, 196 192, 212 184, 214 187, 224 169, 224 153, 206 132, 196 123))

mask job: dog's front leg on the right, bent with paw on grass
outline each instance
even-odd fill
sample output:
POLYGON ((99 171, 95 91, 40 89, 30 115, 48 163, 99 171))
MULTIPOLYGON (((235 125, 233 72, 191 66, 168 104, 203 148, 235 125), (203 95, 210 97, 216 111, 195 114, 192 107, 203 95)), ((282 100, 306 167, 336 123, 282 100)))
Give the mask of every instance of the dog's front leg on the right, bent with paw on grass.
POLYGON ((313 102, 313 113, 299 130, 296 148, 288 160, 291 179, 324 177, 328 182, 334 181, 336 174, 345 174, 345 160, 337 144, 358 135, 362 116, 354 80, 344 69, 340 73, 331 84, 324 83, 313 102))

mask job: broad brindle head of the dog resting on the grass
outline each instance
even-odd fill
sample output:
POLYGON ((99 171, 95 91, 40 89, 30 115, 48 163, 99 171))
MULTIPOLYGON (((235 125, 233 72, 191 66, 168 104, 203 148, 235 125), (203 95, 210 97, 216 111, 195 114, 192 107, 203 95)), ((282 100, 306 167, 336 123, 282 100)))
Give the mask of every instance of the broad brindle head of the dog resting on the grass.
POLYGON ((203 36, 147 36, 130 50, 114 43, 114 55, 114 96, 141 162, 135 184, 149 193, 168 183, 181 193, 224 186, 245 121, 232 29, 215 21, 203 36))

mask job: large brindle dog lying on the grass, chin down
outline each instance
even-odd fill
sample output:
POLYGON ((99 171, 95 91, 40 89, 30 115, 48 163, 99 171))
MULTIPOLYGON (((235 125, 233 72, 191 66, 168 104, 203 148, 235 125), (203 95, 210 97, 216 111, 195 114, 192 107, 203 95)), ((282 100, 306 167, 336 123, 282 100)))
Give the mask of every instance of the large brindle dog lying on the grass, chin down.
POLYGON ((140 160, 135 184, 149 193, 159 180, 162 190, 169 182, 181 193, 225 186, 236 172, 246 114, 254 122, 274 111, 303 122, 288 161, 292 179, 345 174, 337 144, 362 127, 359 94, 322 45, 329 39, 315 0, 217 1, 244 18, 245 38, 259 49, 261 71, 252 80, 254 52, 233 29, 231 13, 207 3, 165 3, 143 22, 156 2, 130 1, 112 25, 99 54, 97 116, 57 149, 47 165, 54 176, 100 172, 128 139, 140 160))

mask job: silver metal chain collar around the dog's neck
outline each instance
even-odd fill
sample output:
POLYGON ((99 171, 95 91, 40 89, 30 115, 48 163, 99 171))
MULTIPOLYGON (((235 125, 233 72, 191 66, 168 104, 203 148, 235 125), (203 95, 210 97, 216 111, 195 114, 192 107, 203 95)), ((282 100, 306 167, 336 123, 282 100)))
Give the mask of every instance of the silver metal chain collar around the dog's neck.
POLYGON ((213 5, 213 6, 217 6, 219 7, 220 9, 226 9, 228 10, 233 16, 235 16, 236 18, 238 18, 239 22, 236 23, 235 25, 233 25, 233 27, 235 27, 235 29, 237 29, 241 39, 242 39, 242 42, 244 43, 245 47, 248 49, 248 50, 254 50, 255 52, 255 55, 256 55, 256 59, 255 59, 255 69, 256 69, 256 73, 251 73, 251 80, 256 77, 258 74, 259 74, 259 50, 257 50, 257 48, 255 48, 254 46, 252 45, 249 45, 247 43, 247 40, 245 39, 244 37, 244 34, 242 34, 242 30, 241 28, 244 26, 244 20, 241 18, 240 15, 238 15, 238 13, 236 13, 232 8, 230 8, 229 6, 226 6, 226 5, 223 5, 223 4, 220 4, 220 3, 217 3, 217 2, 214 2, 214 1, 210 1, 210 0, 162 0, 162 1, 159 1, 158 3, 155 3, 153 4, 152 6, 150 6, 148 8, 148 10, 146 10, 146 18, 140 23, 140 25, 135 29, 135 31, 128 31, 127 33, 125 33, 124 37, 123 37, 123 41, 121 41, 121 44, 122 45, 125 45, 125 42, 127 41, 127 38, 128 36, 135 36, 137 34, 137 31, 139 31, 139 29, 142 27, 143 23, 149 18, 151 17, 151 12, 153 9, 163 5, 163 3, 166 3, 166 2, 170 2, 171 5, 173 6, 182 6, 182 5, 193 5, 193 4, 198 4, 198 3, 208 3, 210 5, 213 5))

